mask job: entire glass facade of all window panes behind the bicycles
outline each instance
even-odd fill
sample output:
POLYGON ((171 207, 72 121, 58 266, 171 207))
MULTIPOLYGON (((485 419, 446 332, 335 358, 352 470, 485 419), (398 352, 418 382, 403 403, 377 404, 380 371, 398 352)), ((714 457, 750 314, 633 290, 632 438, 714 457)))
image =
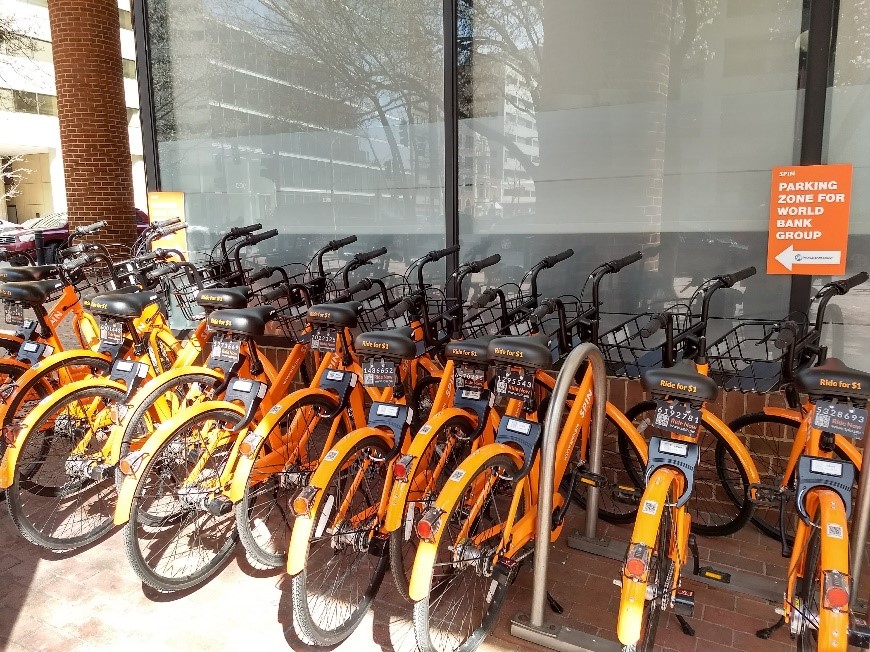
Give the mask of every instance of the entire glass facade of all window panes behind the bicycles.
MULTIPOLYGON (((192 248, 261 222, 281 232, 266 260, 353 233, 397 271, 452 232, 446 115, 460 258, 503 259, 481 282, 572 247, 541 281, 578 293, 642 250, 608 277, 607 310, 659 309, 755 265, 713 314, 789 312, 792 277, 765 274, 770 170, 800 163, 810 0, 456 4, 445 113, 442 1, 148 0, 156 167, 186 193, 192 248)), ((839 2, 826 123, 826 160, 855 165, 850 273, 870 267, 865 5, 839 2)), ((828 337, 836 354, 849 333, 846 359, 870 367, 863 292, 828 337)))

